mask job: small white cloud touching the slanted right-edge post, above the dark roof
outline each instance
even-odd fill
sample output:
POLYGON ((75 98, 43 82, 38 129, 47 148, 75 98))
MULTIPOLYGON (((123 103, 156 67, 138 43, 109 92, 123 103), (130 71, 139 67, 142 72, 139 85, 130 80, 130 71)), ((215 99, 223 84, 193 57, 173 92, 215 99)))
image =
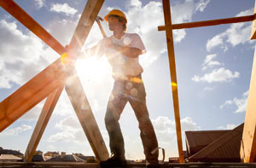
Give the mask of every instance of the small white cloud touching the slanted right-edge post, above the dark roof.
POLYGON ((249 90, 244 92, 240 99, 235 97, 233 100, 225 101, 222 105, 220 105, 220 109, 223 109, 224 107, 229 107, 231 105, 235 105, 237 107, 235 113, 245 112, 247 110, 248 93, 249 90))

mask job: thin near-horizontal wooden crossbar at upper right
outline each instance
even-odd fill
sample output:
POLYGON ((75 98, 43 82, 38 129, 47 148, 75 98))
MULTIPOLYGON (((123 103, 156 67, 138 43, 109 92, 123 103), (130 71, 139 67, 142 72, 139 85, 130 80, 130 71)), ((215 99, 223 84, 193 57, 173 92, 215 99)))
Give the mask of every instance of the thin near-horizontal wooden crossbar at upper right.
MULTIPOLYGON (((195 21, 195 22, 189 22, 189 23, 173 24, 172 30, 195 28, 195 27, 201 27, 201 26, 217 26, 222 24, 240 23, 240 22, 246 22, 246 21, 252 21, 252 20, 253 20, 253 15, 225 18, 220 20, 195 21)), ((166 30, 166 26, 158 26, 158 31, 165 31, 165 30, 166 30)))

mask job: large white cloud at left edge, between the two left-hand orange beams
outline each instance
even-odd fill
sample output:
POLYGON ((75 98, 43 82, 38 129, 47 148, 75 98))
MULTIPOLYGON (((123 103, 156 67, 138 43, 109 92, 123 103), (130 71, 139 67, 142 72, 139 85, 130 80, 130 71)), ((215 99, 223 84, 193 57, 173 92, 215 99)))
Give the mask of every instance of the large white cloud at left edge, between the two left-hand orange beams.
POLYGON ((0 39, 0 88, 25 84, 56 58, 38 37, 21 32, 16 22, 0 20, 0 39))

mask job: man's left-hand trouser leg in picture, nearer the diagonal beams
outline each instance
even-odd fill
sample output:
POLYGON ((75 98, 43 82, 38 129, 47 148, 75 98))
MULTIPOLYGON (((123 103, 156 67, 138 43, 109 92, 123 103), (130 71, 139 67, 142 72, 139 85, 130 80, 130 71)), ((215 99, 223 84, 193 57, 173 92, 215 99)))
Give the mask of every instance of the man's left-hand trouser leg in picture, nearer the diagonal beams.
POLYGON ((123 112, 127 100, 124 94, 124 83, 115 81, 109 97, 105 124, 109 135, 109 146, 114 156, 125 158, 124 138, 119 126, 120 114, 123 112))

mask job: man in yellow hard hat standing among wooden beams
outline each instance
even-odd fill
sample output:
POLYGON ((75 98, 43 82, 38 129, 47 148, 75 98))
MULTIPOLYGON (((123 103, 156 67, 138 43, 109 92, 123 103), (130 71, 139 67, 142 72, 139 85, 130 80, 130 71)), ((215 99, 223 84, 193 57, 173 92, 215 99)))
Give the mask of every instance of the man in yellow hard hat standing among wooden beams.
POLYGON ((136 114, 140 136, 143 142, 147 167, 158 165, 158 142, 154 127, 149 119, 146 105, 146 93, 142 79, 143 67, 139 64, 139 55, 146 50, 142 39, 136 33, 126 33, 125 14, 118 10, 111 10, 104 19, 108 21, 109 30, 113 35, 104 38, 95 47, 85 49, 84 55, 103 55, 113 68, 113 90, 109 97, 105 124, 109 135, 109 145, 112 156, 102 161, 104 166, 125 166, 124 138, 119 126, 119 118, 126 103, 129 101, 136 114))

